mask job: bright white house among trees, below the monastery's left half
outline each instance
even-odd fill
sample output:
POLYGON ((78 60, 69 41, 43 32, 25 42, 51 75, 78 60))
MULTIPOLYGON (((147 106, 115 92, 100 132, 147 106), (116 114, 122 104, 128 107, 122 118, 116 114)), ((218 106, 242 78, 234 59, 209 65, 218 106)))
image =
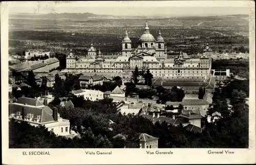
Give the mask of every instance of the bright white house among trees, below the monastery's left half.
POLYGON ((73 91, 72 93, 76 96, 83 96, 84 99, 89 99, 91 101, 97 101, 104 98, 103 96, 104 93, 99 90, 82 89, 82 90, 73 91))

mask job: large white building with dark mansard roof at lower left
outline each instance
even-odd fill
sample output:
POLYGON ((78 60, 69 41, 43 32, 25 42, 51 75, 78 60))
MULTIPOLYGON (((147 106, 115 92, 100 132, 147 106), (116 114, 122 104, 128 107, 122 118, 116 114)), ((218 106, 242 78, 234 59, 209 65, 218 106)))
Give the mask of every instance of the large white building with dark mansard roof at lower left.
POLYGON ((9 119, 26 121, 32 126, 44 125, 56 135, 70 135, 70 122, 58 114, 58 109, 50 108, 37 99, 20 97, 15 103, 9 103, 9 119))

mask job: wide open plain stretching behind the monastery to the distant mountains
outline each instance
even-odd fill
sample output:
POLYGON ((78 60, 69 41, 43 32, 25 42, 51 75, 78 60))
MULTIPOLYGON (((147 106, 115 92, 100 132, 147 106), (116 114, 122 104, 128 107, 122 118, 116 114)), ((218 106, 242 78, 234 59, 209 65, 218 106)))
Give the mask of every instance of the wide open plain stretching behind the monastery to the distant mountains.
POLYGON ((72 14, 66 18, 53 14, 33 15, 29 19, 26 15, 10 15, 10 51, 39 47, 51 51, 78 48, 86 52, 93 40, 102 52, 117 52, 121 50, 125 29, 133 46, 136 46, 135 42, 143 34, 145 21, 148 21, 155 38, 161 29, 166 46, 189 49, 188 53, 193 53, 191 49, 200 48, 205 43, 216 49, 232 49, 241 45, 246 48, 249 43, 248 15, 129 19, 74 17, 72 14))

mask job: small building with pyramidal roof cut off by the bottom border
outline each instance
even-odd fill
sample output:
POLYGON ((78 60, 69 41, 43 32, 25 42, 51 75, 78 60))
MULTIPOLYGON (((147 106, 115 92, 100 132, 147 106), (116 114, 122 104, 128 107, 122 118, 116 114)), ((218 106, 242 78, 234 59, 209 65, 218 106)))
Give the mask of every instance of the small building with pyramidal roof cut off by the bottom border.
POLYGON ((141 133, 140 148, 158 148, 158 139, 158 137, 154 137, 146 133, 141 133))

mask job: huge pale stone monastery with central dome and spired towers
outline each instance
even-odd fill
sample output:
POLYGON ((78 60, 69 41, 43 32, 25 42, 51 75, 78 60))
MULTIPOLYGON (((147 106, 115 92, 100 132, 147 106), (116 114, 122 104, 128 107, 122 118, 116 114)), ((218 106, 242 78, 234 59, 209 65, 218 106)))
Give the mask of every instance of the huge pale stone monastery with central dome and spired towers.
POLYGON ((202 82, 210 77, 212 51, 209 46, 206 46, 203 54, 198 58, 189 58, 186 53, 180 51, 176 58, 167 59, 167 48, 161 32, 159 31, 155 39, 150 34, 147 23, 138 43, 137 48, 132 48, 132 41, 126 31, 122 41, 122 55, 116 59, 104 59, 93 43, 88 50, 87 57, 76 60, 71 51, 67 57, 67 71, 120 76, 131 75, 137 66, 139 70, 149 69, 154 79, 161 77, 169 80, 177 79, 177 81, 191 81, 192 79, 192 81, 202 82))

